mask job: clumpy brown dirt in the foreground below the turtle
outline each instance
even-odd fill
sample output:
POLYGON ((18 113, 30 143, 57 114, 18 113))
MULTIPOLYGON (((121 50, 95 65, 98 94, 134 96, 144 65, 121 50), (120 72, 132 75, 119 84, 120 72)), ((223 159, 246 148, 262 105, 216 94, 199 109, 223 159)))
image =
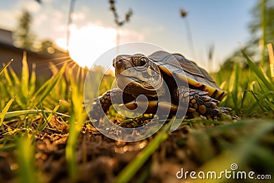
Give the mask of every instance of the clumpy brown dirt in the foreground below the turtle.
MULTIPOLYGON (((43 182, 71 182, 65 157, 68 128, 54 121, 51 125, 54 130, 45 129, 36 134, 38 173, 43 182)), ((176 172, 182 167, 197 168, 199 164, 192 160, 190 150, 182 143, 188 129, 184 125, 170 134, 131 182, 179 182, 176 172)), ((104 136, 91 125, 83 127, 77 141, 77 178, 73 182, 114 182, 116 175, 152 138, 125 143, 104 136)), ((16 182, 17 173, 16 150, 0 152, 0 182, 16 182)))

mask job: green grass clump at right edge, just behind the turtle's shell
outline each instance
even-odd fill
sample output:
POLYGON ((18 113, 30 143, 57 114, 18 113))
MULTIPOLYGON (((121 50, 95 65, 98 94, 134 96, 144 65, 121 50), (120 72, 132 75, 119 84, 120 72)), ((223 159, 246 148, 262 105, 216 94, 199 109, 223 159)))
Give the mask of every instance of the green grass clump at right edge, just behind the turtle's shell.
POLYGON ((274 82, 270 73, 258 67, 242 50, 248 69, 240 63, 234 65, 232 73, 221 69, 214 77, 224 90, 229 91, 221 106, 233 108, 240 117, 271 117, 273 110, 274 82))

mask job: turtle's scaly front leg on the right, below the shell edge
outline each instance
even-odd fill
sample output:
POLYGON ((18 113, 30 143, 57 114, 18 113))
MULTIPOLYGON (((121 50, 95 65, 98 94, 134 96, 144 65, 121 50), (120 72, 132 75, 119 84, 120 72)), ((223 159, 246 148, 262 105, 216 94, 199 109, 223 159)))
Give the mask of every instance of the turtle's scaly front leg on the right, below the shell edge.
POLYGON ((207 119, 220 120, 221 114, 227 114, 231 110, 230 108, 219 108, 217 105, 220 101, 208 96, 206 91, 181 87, 178 92, 180 102, 186 102, 186 99, 189 99, 188 108, 195 109, 207 119))

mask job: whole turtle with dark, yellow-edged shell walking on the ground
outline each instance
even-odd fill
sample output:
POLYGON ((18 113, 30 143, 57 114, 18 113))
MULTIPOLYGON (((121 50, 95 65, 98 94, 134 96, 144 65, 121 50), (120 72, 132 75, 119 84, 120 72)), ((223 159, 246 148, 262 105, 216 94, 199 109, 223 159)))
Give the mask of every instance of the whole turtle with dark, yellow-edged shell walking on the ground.
POLYGON ((94 99, 90 110, 92 119, 104 117, 114 103, 134 110, 143 105, 137 102, 140 95, 147 97, 145 113, 155 114, 158 108, 169 108, 169 115, 172 115, 181 102, 188 104, 187 117, 192 116, 192 112, 212 120, 229 115, 230 108, 218 106, 227 91, 222 90, 205 69, 179 53, 155 51, 150 56, 142 53, 119 55, 112 65, 118 88, 94 99), (159 102, 159 97, 164 95, 169 95, 171 100, 159 102))

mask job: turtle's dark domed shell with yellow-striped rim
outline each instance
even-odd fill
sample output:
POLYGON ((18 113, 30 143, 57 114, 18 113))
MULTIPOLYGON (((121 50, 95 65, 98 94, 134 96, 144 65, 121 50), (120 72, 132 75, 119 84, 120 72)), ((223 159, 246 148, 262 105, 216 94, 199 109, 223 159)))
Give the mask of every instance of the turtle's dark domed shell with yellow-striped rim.
POLYGON ((210 97, 219 101, 227 95, 227 92, 222 90, 216 82, 214 82, 205 69, 197 66, 195 62, 187 60, 181 54, 156 51, 152 53, 149 58, 158 65, 163 73, 188 82, 190 88, 206 91, 210 97), (182 74, 182 70, 185 76, 182 74))

